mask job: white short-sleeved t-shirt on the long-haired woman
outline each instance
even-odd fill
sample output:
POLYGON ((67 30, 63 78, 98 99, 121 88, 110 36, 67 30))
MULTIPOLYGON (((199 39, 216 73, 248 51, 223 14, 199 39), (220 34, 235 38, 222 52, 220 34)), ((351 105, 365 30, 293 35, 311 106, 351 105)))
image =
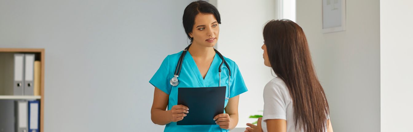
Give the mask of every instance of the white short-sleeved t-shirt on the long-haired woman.
POLYGON ((287 132, 304 132, 303 129, 295 129, 292 99, 287 85, 281 78, 276 77, 265 85, 263 97, 264 111, 261 128, 264 132, 267 132, 267 119, 287 120, 287 132))

